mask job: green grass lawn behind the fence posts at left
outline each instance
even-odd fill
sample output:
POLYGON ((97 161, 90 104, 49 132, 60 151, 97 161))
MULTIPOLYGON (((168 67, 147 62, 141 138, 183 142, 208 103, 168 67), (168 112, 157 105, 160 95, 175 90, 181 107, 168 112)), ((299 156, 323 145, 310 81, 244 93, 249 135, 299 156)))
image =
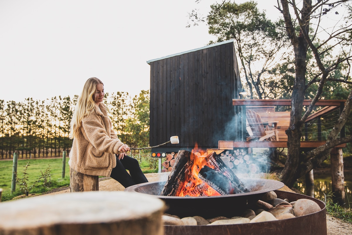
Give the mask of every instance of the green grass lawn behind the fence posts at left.
MULTIPOLYGON (((137 157, 138 159, 138 157, 137 157)), ((139 160, 139 159, 138 159, 139 160)), ((157 172, 149 169, 149 163, 146 157, 142 157, 140 166, 144 173, 157 172)), ((29 193, 42 193, 53 188, 70 185, 70 167, 68 165, 69 157, 66 157, 65 177, 62 178, 62 157, 61 158, 43 158, 43 159, 18 159, 17 163, 17 181, 26 182, 27 186, 33 186, 29 193), (27 169, 26 165, 28 163, 27 169), (25 172, 26 169, 26 172, 25 172), (48 173, 50 169, 50 174, 48 173), (26 174, 25 174, 25 173, 26 174), (40 182, 37 182, 40 179, 40 182), (45 180, 50 180, 50 187, 44 187, 45 180)), ((2 188, 2 201, 10 200, 18 195, 23 194, 20 191, 20 185, 16 184, 16 190, 11 193, 13 160, 0 160, 0 188, 2 188)), ((23 187, 23 186, 22 186, 23 187)))

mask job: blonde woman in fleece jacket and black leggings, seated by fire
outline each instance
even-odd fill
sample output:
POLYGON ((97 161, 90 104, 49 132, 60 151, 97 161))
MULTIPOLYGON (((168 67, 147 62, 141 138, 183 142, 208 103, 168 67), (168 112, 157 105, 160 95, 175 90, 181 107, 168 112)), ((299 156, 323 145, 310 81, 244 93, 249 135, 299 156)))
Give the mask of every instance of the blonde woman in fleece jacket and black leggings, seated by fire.
POLYGON ((70 167, 86 175, 110 176, 124 187, 148 182, 138 161, 126 155, 130 147, 112 129, 103 98, 103 83, 98 78, 88 79, 71 121, 70 167))

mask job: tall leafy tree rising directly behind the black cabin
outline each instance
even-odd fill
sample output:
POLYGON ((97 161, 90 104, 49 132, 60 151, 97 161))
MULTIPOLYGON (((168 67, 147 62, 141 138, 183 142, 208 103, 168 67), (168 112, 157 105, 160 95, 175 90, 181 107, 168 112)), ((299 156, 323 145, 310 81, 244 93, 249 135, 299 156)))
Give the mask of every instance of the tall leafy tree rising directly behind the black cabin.
POLYGON ((254 1, 238 5, 222 2, 210 7, 209 33, 216 35, 218 42, 234 39, 249 97, 275 98, 268 89, 271 82, 268 73, 278 57, 287 56, 289 43, 283 21, 267 19, 254 1))

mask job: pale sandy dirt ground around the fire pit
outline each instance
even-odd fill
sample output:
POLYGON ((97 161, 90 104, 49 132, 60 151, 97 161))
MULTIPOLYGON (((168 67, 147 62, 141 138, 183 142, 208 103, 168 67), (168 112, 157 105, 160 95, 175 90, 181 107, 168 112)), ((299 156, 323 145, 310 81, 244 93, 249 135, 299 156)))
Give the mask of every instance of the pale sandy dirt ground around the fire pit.
MULTIPOLYGON (((149 182, 165 181, 169 173, 148 173, 145 174, 149 182)), ((99 182, 99 191, 123 191, 125 188, 110 177, 101 178, 99 182)), ((285 187, 283 190, 290 191, 285 187)), ((51 191, 48 194, 70 193, 69 187, 58 189, 58 191, 51 191)), ((341 221, 340 219, 326 215, 327 235, 347 235, 352 234, 352 224, 341 221)))

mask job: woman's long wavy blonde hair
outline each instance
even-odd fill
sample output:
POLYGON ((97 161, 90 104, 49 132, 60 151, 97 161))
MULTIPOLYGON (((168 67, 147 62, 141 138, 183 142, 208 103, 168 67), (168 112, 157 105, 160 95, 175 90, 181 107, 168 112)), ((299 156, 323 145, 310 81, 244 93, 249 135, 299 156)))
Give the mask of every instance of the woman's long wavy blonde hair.
POLYGON ((70 139, 73 139, 78 130, 81 128, 83 117, 89 115, 90 112, 94 110, 94 98, 96 93, 96 85, 98 84, 104 85, 98 78, 90 78, 84 84, 82 93, 77 99, 75 111, 72 115, 69 134, 70 139))

